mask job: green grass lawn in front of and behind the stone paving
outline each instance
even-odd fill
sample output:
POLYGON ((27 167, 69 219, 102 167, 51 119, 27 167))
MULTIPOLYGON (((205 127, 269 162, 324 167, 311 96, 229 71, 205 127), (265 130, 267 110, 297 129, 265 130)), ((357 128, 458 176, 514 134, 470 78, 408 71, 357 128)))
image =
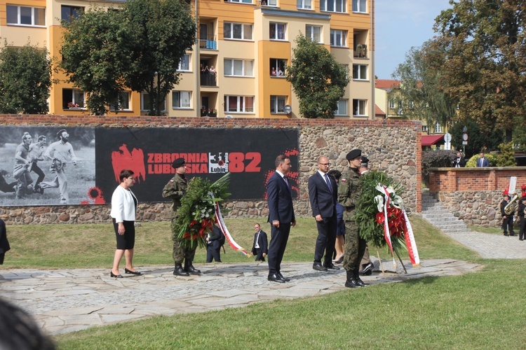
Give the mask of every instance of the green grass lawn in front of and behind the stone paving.
MULTIPOLYGON (((485 265, 462 276, 426 277, 276 300, 202 314, 156 316, 53 337, 58 349, 524 349, 526 260, 485 260, 436 228, 411 218, 421 260, 456 258, 485 265)), ((250 249, 258 219, 227 221, 250 249)), ((12 267, 111 267, 111 225, 9 226, 12 267), (27 230, 32 232, 27 232, 27 230)), ((284 262, 311 261, 313 218, 292 229, 284 262)), ((135 264, 171 265, 168 223, 137 228, 135 264)), ((376 249, 370 248, 372 255, 376 249)), ((387 251, 379 251, 387 258, 387 251)), ((196 262, 204 262, 198 249, 196 262)), ((407 258, 407 257, 403 257, 407 258)), ((246 262, 227 248, 224 262, 246 262)), ((252 259, 250 260, 252 261, 252 259)))

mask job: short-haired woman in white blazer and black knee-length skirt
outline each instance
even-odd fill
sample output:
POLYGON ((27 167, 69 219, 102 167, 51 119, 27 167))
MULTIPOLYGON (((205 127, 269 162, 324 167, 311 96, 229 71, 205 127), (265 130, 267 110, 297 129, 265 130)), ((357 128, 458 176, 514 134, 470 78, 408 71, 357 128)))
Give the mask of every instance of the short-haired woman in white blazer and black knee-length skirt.
POLYGON ((137 197, 130 190, 135 183, 133 172, 123 169, 119 174, 121 184, 117 186, 112 195, 113 226, 117 237, 117 249, 113 259, 112 272, 109 276, 123 278, 119 273, 119 263, 124 255, 126 259, 127 274, 141 274, 133 268, 133 247, 135 246, 135 211, 137 211, 137 197))

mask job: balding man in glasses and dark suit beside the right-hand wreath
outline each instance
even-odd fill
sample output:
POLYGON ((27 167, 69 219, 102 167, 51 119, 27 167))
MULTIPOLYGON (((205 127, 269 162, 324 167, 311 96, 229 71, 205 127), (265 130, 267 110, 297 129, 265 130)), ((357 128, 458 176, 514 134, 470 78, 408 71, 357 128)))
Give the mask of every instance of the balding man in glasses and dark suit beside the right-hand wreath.
POLYGON ((311 201, 312 216, 316 218, 318 238, 314 249, 313 269, 327 271, 339 269, 332 263, 332 253, 335 251, 336 241, 336 202, 338 187, 333 176, 328 175, 329 160, 321 155, 318 158, 318 172, 309 178, 309 200, 311 201), (323 253, 325 252, 325 258, 323 253), (321 265, 323 258, 323 265, 321 265))

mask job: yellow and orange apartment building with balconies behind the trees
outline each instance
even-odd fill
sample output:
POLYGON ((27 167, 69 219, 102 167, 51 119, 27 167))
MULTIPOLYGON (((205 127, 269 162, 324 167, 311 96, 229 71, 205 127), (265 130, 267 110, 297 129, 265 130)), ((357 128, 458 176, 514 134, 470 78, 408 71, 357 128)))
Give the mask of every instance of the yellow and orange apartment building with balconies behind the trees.
MULTIPOLYGON (((0 37, 8 45, 47 48, 60 59, 60 20, 123 1, 0 0, 0 37)), ((194 0, 196 45, 180 62, 180 83, 166 97, 168 116, 301 118, 284 77, 295 38, 325 45, 352 78, 337 118, 374 118, 374 0, 194 0)), ((64 73, 51 90, 50 113, 88 114, 86 94, 64 73)), ((119 115, 146 114, 147 94, 125 92, 119 115)), ((114 107, 110 108, 114 114, 114 107)))

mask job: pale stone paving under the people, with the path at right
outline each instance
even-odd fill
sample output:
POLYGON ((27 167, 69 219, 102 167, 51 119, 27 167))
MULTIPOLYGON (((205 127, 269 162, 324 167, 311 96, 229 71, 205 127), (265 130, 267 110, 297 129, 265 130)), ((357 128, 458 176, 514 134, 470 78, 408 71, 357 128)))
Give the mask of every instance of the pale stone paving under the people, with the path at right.
MULTIPOLYGON (((526 241, 519 241, 518 237, 479 232, 450 237, 483 258, 526 258, 526 241)), ((375 273, 363 280, 371 284, 390 283, 422 276, 464 274, 480 268, 461 260, 422 260, 420 267, 404 263, 407 274, 382 274, 376 260, 375 273)), ((307 262, 285 262, 282 273, 291 281, 283 284, 267 281, 266 263, 196 267, 203 272, 201 276, 175 277, 173 267, 137 266, 144 274, 126 275, 124 279, 109 277, 109 269, 0 269, 0 295, 34 315, 46 332, 60 334, 154 315, 242 307, 347 289, 343 269, 318 272, 307 262)), ((384 269, 389 270, 389 262, 384 262, 384 269)))

